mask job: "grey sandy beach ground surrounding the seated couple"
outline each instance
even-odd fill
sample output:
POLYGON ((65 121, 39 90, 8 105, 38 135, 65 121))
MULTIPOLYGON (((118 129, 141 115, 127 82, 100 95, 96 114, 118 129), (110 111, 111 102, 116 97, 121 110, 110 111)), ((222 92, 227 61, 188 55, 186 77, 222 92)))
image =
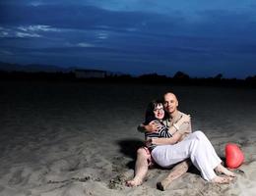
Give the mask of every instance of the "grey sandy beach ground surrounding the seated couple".
POLYGON ((256 89, 1 81, 0 92, 1 196, 255 195, 256 89), (212 184, 192 170, 160 191, 168 170, 152 169, 143 185, 124 185, 143 144, 136 127, 166 90, 221 157, 227 142, 241 147, 234 182, 212 184))

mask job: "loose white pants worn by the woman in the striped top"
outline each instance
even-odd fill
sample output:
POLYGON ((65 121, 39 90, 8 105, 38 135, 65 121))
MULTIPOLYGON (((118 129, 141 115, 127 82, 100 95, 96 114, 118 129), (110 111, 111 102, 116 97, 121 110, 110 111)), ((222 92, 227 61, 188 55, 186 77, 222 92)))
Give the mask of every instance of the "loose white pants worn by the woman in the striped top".
POLYGON ((154 161, 163 168, 190 158, 203 178, 211 180, 216 176, 214 169, 222 163, 206 135, 198 130, 173 145, 160 145, 152 151, 154 161))

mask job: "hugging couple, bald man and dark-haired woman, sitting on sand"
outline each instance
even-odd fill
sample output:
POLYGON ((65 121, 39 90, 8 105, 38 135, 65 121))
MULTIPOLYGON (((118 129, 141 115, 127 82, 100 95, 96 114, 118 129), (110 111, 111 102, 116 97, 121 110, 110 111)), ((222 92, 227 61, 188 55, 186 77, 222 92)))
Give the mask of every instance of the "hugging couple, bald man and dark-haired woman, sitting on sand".
POLYGON ((142 184, 149 167, 154 164, 172 168, 172 172, 157 184, 161 190, 187 172, 191 162, 207 181, 228 183, 235 176, 221 164, 222 160, 206 135, 200 130, 191 131, 190 116, 179 112, 177 107, 178 100, 170 92, 163 95, 162 102, 153 101, 148 106, 146 121, 138 127, 145 132, 146 147, 137 151, 135 176, 127 181, 128 186, 142 184))

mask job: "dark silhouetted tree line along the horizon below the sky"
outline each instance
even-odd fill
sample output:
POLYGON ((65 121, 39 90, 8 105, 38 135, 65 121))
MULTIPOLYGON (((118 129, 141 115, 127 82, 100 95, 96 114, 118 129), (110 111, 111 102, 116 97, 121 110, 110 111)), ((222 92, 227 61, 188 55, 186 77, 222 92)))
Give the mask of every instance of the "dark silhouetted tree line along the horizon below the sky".
POLYGON ((0 71, 0 80, 47 80, 47 81, 86 81, 86 82, 134 82, 134 83, 172 83, 185 85, 218 85, 218 86, 249 86, 256 87, 256 75, 245 79, 224 78, 222 73, 213 77, 191 77, 187 73, 177 72, 173 76, 158 73, 131 74, 108 73, 104 77, 78 78, 74 72, 18 72, 0 71))

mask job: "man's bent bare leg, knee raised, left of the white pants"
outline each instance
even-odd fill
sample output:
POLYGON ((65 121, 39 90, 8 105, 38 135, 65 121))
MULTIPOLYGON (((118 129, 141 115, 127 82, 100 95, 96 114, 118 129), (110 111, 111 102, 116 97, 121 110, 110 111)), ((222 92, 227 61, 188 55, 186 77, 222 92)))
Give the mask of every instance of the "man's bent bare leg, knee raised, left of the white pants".
POLYGON ((148 159, 150 157, 151 155, 144 148, 139 148, 137 150, 135 175, 133 179, 126 182, 127 186, 138 186, 142 184, 149 169, 148 159))

